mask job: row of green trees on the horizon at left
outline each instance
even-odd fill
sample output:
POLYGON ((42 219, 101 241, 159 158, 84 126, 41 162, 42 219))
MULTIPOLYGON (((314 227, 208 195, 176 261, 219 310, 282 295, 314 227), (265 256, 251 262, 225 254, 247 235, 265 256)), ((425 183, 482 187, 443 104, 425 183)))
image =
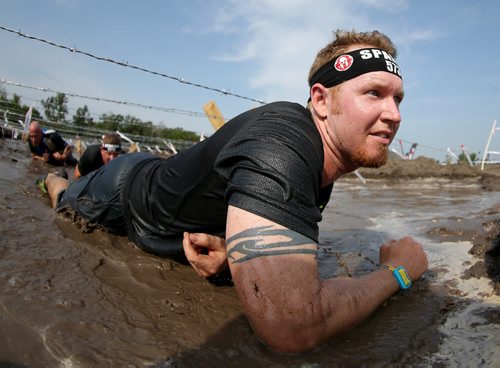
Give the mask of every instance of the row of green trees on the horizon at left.
MULTIPOLYGON (((48 122, 64 124, 76 133, 85 134, 89 130, 98 131, 116 131, 122 133, 142 136, 146 138, 162 138, 172 140, 197 141, 199 136, 195 132, 187 131, 182 128, 166 128, 161 125, 155 125, 151 121, 142 121, 131 115, 121 114, 102 114, 98 120, 94 120, 87 105, 76 109, 75 114, 68 118, 68 98, 64 93, 57 93, 55 96, 48 97, 41 101, 44 109, 45 119, 48 122)), ((9 121, 22 120, 29 109, 29 106, 21 103, 20 96, 14 94, 8 97, 6 91, 0 87, 0 108, 7 112, 9 121)), ((35 108, 32 110, 32 120, 41 120, 42 114, 35 108)))

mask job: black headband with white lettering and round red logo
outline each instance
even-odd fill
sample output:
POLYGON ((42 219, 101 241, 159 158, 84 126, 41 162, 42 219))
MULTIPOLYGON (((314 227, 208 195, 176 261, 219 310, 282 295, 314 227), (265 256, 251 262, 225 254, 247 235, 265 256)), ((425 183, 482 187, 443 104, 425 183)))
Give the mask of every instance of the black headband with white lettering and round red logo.
POLYGON ((387 51, 377 48, 354 50, 319 68, 311 77, 309 87, 320 83, 330 88, 361 74, 379 71, 392 73, 402 79, 398 64, 387 51))

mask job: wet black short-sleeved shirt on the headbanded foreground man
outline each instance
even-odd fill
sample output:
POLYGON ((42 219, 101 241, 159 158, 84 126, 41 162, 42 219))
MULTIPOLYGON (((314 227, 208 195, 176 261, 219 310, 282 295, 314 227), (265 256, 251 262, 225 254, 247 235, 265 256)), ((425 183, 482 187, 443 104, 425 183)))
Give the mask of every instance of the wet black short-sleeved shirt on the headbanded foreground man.
POLYGON ((223 235, 232 205, 318 241, 332 189, 320 190, 322 170, 308 110, 276 102, 247 111, 190 149, 133 170, 124 192, 129 237, 161 253, 183 231, 223 235))

